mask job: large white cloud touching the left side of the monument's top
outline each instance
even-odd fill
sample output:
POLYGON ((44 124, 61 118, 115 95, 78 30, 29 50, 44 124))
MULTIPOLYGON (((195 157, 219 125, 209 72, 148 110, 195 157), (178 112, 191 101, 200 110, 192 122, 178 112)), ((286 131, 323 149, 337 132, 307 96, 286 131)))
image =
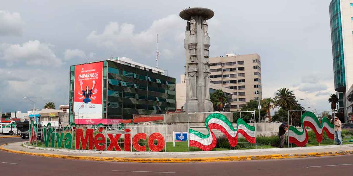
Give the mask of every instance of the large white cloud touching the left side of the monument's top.
POLYGON ((175 51, 175 43, 182 46, 184 38, 185 21, 178 15, 168 15, 166 18, 153 21, 151 26, 144 31, 135 32, 135 25, 110 22, 101 34, 92 31, 87 36, 87 41, 97 46, 122 52, 138 52, 153 56, 156 50, 156 35, 158 43, 166 57, 171 58, 175 51))

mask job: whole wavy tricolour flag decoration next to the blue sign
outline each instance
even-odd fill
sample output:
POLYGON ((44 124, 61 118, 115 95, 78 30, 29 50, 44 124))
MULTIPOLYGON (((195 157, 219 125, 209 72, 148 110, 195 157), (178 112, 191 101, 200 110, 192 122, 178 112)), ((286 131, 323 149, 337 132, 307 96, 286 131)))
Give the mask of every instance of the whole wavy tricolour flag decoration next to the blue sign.
POLYGON ((238 133, 242 134, 250 143, 255 144, 255 127, 248 125, 241 118, 237 121, 237 129, 234 129, 232 123, 225 115, 214 113, 206 118, 205 126, 208 134, 189 129, 190 146, 198 147, 204 151, 212 150, 217 144, 217 139, 212 129, 219 130, 225 134, 232 147, 238 144, 238 133))

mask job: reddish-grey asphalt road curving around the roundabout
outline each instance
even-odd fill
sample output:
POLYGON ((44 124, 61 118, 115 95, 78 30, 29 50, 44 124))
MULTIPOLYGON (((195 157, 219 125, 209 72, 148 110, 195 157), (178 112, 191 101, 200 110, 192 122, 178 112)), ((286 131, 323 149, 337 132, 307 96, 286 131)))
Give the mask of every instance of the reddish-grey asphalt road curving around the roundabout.
MULTIPOLYGON (((28 139, 26 139, 28 140, 28 139)), ((25 141, 0 138, 0 145, 25 141)), ((121 163, 47 158, 0 151, 1 176, 10 175, 353 175, 353 155, 214 163, 121 163), (327 166, 330 165, 330 166, 327 166)))

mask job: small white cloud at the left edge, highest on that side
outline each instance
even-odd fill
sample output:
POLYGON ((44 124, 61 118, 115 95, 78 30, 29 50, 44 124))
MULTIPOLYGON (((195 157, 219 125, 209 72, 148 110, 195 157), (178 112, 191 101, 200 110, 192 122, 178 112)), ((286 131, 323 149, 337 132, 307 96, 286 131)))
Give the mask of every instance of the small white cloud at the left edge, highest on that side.
POLYGON ((21 36, 23 26, 19 13, 0 10, 0 36, 21 36))

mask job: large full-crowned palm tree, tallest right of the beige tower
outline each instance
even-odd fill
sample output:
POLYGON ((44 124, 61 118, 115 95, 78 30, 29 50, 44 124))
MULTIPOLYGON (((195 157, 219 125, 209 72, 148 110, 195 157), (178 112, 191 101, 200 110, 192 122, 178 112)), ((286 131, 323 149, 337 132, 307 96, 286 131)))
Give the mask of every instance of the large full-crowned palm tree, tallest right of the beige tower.
POLYGON ((287 88, 281 88, 275 93, 275 107, 288 110, 291 107, 295 106, 295 95, 292 91, 289 91, 287 88))

